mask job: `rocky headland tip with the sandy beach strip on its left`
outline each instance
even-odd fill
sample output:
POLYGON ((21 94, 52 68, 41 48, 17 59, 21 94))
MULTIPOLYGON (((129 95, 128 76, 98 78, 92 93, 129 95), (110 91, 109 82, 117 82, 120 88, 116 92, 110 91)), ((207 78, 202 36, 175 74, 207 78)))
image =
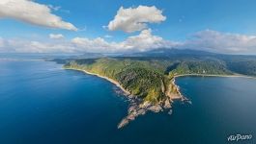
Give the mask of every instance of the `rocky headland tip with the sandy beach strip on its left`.
POLYGON ((175 78, 172 79, 172 83, 168 85, 167 89, 163 89, 163 91, 165 91, 166 99, 164 101, 159 102, 158 104, 153 104, 149 101, 143 102, 143 100, 139 99, 138 97, 131 95, 130 92, 126 90, 121 84, 119 84, 118 82, 110 78, 86 71, 84 69, 74 69, 74 68, 67 68, 67 69, 78 70, 78 71, 85 72, 86 74, 89 74, 89 75, 98 76, 102 79, 105 79, 111 82, 112 84, 115 84, 124 92, 124 95, 127 96, 130 104, 128 108, 128 115, 125 118, 123 118, 122 121, 118 124, 117 126, 118 129, 121 129, 127 126, 130 121, 135 120, 135 118, 138 117, 139 115, 146 114, 148 111, 160 112, 160 111, 163 111, 163 109, 169 109, 168 114, 172 114, 171 108, 174 100, 181 100, 188 103, 190 102, 180 92, 179 86, 175 84, 175 78), (177 93, 171 93, 170 92, 171 87, 175 87, 177 89, 177 93))

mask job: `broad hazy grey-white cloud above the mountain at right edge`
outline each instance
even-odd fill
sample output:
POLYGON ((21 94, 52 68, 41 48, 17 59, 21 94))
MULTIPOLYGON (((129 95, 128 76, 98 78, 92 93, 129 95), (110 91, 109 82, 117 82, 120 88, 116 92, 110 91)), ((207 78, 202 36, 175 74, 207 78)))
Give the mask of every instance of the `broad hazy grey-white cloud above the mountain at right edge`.
POLYGON ((190 36, 180 47, 227 54, 256 54, 256 36, 205 30, 190 36))

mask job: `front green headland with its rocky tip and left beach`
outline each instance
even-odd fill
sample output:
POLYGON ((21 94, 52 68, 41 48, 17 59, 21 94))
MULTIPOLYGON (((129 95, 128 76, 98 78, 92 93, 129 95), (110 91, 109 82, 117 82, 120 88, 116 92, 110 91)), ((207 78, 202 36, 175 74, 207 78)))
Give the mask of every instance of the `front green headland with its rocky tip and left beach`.
POLYGON ((124 91, 130 107, 128 116, 118 125, 118 128, 122 128, 148 110, 162 111, 163 108, 171 108, 174 100, 186 100, 174 83, 174 78, 164 75, 152 64, 150 61, 108 58, 71 60, 64 67, 106 79, 124 91))

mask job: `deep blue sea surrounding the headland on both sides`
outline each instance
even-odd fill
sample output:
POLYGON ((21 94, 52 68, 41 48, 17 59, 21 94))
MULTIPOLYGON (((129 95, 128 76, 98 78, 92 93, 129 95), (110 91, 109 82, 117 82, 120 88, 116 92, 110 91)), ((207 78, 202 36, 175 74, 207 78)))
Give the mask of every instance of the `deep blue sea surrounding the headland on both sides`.
POLYGON ((44 60, 0 60, 0 144, 255 143, 256 80, 178 78, 192 105, 137 118, 122 130, 128 101, 96 76, 44 60), (228 142, 231 134, 251 140, 228 142))

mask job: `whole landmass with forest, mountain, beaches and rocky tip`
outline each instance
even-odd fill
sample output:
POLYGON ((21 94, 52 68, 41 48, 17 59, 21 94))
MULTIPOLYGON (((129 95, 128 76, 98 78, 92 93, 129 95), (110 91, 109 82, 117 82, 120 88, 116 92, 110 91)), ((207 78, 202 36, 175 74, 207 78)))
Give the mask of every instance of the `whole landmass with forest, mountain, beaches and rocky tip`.
POLYGON ((256 58, 201 51, 158 49, 145 53, 90 59, 57 60, 64 68, 83 71, 116 84, 130 102, 122 128, 147 111, 172 113, 174 101, 191 103, 180 92, 175 78, 181 76, 256 76, 256 58))

